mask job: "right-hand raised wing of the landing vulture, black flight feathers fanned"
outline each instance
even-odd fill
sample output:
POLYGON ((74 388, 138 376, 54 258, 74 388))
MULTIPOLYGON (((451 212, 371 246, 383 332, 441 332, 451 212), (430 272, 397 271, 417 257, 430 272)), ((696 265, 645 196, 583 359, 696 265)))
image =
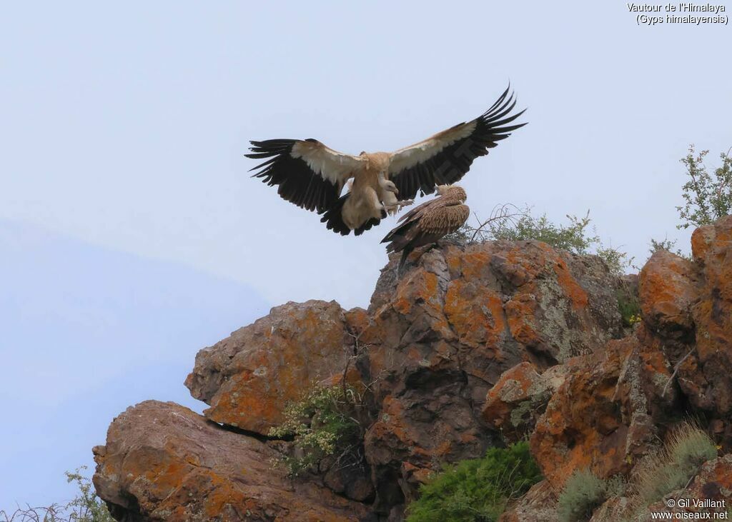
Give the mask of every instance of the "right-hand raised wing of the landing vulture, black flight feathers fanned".
POLYGON ((516 105, 513 94, 508 95, 509 89, 478 118, 395 151, 389 177, 399 189, 399 198, 411 199, 418 191, 432 194, 436 185, 455 183, 468 172, 474 159, 485 156, 498 141, 526 125, 509 125, 524 112, 509 116, 516 105))

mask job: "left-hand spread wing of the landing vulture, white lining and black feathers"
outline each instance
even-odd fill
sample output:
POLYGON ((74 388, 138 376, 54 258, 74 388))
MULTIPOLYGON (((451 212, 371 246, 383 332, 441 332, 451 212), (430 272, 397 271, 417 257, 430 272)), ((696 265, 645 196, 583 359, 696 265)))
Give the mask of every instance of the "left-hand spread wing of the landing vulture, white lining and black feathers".
POLYGON ((308 211, 323 213, 334 205, 343 185, 361 166, 360 156, 341 154, 318 140, 252 141, 247 158, 266 159, 251 170, 277 194, 308 211))

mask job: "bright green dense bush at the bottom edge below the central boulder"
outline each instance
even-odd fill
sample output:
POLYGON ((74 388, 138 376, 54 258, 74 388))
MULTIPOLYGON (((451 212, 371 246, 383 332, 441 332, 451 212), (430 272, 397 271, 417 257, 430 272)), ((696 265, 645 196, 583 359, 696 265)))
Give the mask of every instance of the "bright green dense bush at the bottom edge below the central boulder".
POLYGON ((529 443, 491 448, 485 457, 447 466, 419 488, 407 507, 408 522, 498 520, 507 502, 542 480, 529 443))

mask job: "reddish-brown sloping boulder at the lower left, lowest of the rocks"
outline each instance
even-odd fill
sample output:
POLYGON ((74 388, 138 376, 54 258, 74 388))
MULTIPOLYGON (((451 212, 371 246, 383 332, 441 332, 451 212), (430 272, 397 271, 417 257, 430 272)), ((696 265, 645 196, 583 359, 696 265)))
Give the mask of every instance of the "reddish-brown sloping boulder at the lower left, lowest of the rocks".
POLYGON ((173 403, 146 401, 94 448, 94 487, 125 521, 370 521, 364 504, 273 468, 278 453, 173 403))

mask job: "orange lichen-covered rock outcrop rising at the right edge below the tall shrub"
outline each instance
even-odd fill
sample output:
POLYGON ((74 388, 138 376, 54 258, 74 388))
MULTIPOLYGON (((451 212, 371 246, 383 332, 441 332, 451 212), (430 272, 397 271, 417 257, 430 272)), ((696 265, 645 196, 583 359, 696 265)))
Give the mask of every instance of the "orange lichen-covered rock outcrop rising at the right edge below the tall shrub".
POLYGON ((732 216, 692 235, 692 259, 655 253, 641 271, 644 344, 679 366, 677 382, 732 445, 732 216))

